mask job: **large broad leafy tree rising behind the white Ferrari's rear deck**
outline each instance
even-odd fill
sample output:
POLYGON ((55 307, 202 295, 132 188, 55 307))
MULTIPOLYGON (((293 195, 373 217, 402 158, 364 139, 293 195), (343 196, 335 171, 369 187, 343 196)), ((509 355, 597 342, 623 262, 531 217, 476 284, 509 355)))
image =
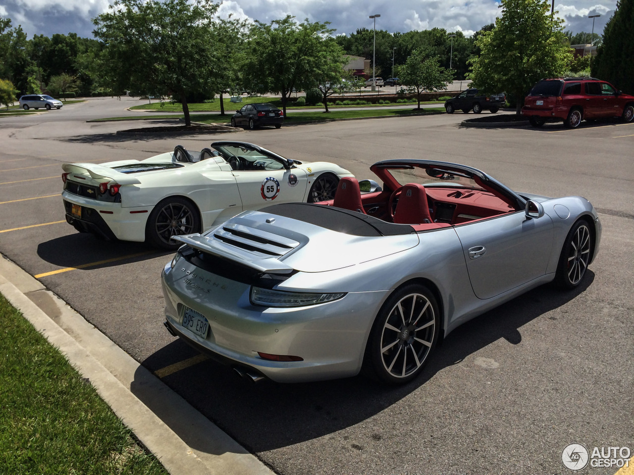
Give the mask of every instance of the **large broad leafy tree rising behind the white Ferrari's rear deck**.
POLYGON ((191 125, 188 94, 208 91, 221 67, 209 0, 116 0, 93 20, 104 82, 121 94, 171 94, 191 125))

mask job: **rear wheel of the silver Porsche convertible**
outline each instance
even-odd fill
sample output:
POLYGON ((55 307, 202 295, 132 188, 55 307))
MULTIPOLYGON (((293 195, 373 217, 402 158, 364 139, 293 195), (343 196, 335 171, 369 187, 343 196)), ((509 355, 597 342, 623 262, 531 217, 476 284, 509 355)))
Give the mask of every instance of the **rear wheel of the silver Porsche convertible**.
POLYGON ((384 383, 402 384, 422 371, 440 331, 436 298, 425 286, 410 284, 385 301, 374 321, 366 361, 384 383))

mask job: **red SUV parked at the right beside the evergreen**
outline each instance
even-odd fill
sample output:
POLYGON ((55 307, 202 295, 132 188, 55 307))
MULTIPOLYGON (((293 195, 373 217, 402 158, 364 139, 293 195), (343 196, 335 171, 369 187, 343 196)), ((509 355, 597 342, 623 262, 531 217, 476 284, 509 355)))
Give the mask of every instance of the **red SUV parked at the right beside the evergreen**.
POLYGON ((591 77, 542 79, 524 99, 522 115, 529 118, 533 127, 563 120, 566 127, 574 129, 581 120, 605 117, 632 122, 634 96, 591 77))

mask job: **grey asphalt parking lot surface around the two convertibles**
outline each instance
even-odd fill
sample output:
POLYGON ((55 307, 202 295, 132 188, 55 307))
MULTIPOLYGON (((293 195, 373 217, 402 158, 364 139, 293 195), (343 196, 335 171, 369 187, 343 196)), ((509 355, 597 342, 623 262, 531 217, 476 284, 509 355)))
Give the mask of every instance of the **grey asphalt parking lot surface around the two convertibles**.
POLYGON ((570 443, 634 452, 634 124, 471 129, 460 122, 474 116, 455 113, 131 139, 115 132, 144 122, 85 122, 126 115, 130 105, 91 99, 0 118, 0 253, 274 471, 565 474, 570 443), (544 286, 471 320, 407 386, 362 377, 252 384, 165 331, 160 271, 171 253, 79 234, 60 198, 61 163, 143 159, 224 139, 339 163, 359 179, 372 178, 378 160, 424 157, 481 168, 517 191, 585 196, 604 226, 601 248, 581 288, 544 286))

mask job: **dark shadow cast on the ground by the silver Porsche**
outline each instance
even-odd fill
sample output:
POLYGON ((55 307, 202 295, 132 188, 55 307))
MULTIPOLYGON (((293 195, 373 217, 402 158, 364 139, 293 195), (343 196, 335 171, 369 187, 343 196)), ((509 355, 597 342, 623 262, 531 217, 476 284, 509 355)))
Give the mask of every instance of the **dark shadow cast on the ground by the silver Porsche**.
MULTIPOLYGON (((572 291, 541 286, 470 320, 437 347, 420 377, 404 386, 385 386, 362 376, 316 383, 256 384, 248 377, 240 379, 232 369, 212 360, 176 371, 162 381, 250 452, 287 447, 366 421, 417 391, 439 371, 460 364, 498 339, 518 345, 522 326, 566 305, 593 280, 594 274, 588 270, 583 284, 572 291)), ((146 358, 143 366, 157 371, 195 355, 195 350, 176 339, 146 358)), ((174 415, 173 408, 145 390, 143 374, 136 376, 133 393, 168 426, 178 427, 180 421, 175 420, 178 415, 174 415)), ((181 431, 178 435, 194 449, 213 450, 201 443, 197 434, 181 431)))

